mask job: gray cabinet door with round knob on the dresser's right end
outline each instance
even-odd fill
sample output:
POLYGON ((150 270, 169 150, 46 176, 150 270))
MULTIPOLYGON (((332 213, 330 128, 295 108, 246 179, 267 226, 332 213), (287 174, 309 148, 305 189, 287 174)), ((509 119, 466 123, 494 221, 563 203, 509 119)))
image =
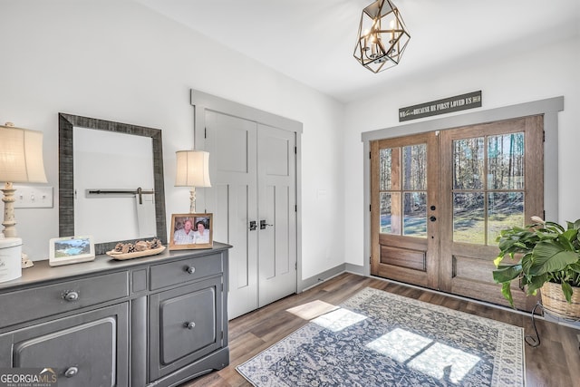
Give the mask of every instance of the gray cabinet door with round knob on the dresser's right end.
POLYGON ((224 341, 222 276, 150 298, 150 382, 212 353, 224 341))

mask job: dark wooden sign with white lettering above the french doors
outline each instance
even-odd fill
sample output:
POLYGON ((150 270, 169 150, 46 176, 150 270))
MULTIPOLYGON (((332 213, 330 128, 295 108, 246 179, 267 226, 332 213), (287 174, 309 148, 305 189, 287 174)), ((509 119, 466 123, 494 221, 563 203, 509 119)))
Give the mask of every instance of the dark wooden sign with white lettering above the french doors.
POLYGON ((423 102, 419 105, 401 108, 399 109, 399 122, 480 107, 481 91, 479 90, 478 92, 469 92, 438 101, 423 102))

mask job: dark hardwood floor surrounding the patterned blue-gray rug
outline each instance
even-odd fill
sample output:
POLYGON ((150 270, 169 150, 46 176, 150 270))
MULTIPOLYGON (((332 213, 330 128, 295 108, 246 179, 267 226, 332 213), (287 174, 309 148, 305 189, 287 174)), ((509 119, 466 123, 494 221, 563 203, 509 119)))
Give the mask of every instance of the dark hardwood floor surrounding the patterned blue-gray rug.
MULTIPOLYGON (((338 305, 365 286, 375 287, 397 295, 404 295, 431 304, 469 314, 477 314, 508 324, 523 326, 525 334, 533 334, 529 315, 517 314, 506 309, 481 305, 441 295, 412 286, 399 285, 376 278, 342 274, 321 285, 291 295, 252 313, 229 322, 230 363, 223 370, 211 372, 183 384, 193 386, 250 386, 235 367, 265 350, 286 335, 308 322, 286 309, 304 305, 315 300, 338 305)), ((536 319, 540 334, 540 346, 526 344, 526 378, 528 387, 578 387, 580 386, 580 350, 577 334, 580 330, 536 319)))

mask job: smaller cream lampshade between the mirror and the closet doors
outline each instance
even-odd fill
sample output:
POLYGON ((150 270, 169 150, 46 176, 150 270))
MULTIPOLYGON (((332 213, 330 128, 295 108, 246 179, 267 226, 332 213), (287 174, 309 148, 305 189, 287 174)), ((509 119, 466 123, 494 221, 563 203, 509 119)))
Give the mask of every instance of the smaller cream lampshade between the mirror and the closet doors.
POLYGON ((209 153, 203 150, 179 150, 176 153, 176 187, 211 187, 209 153))

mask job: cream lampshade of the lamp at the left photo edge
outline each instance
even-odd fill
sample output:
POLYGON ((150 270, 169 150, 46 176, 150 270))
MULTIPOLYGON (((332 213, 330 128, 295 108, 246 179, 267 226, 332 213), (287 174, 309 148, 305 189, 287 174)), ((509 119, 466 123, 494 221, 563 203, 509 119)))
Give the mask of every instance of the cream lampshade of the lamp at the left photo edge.
POLYGON ((0 181, 46 182, 42 131, 0 125, 0 181))

